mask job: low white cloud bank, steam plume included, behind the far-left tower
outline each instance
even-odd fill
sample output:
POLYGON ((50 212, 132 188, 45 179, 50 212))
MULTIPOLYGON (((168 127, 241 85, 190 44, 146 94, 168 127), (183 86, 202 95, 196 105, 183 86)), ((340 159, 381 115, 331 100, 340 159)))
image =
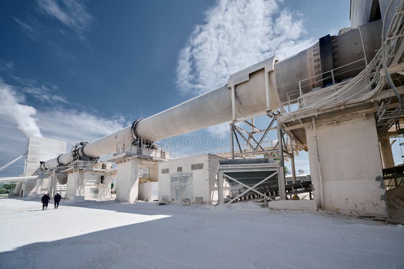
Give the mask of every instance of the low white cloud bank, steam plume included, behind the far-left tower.
MULTIPOLYGON (((0 164, 6 164, 10 160, 23 154, 27 147, 27 137, 30 135, 53 138, 66 141, 67 150, 76 142, 82 140, 93 141, 110 133, 116 132, 129 125, 120 115, 105 118, 98 116, 97 112, 79 111, 66 108, 63 103, 67 100, 56 100, 52 94, 48 94, 58 87, 52 83, 45 86, 31 87, 31 80, 20 79, 19 82, 28 81, 30 86, 16 87, 7 84, 0 78, 0 164), (25 104, 24 94, 43 95, 53 98, 55 102, 35 107, 25 104), (31 89, 28 93, 27 89, 31 89)), ((32 82, 34 83, 34 82, 32 82)), ((35 96, 34 96, 35 97, 35 96)), ((47 97, 46 97, 47 98, 47 97)), ((19 163, 23 165, 23 163, 19 163)), ((22 173, 22 168, 10 168, 0 172, 2 176, 16 176, 22 173)))

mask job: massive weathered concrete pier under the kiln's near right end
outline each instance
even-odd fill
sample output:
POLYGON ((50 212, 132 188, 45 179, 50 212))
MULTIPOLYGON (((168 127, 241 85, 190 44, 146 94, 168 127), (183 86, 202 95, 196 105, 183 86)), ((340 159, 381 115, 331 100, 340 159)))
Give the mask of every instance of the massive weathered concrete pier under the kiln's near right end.
MULTIPOLYGON (((306 128, 314 199, 320 205, 316 141, 306 128)), ((368 116, 317 126, 324 208, 354 214, 387 216, 375 119, 368 116), (357 156, 352 159, 352 156, 357 156)))

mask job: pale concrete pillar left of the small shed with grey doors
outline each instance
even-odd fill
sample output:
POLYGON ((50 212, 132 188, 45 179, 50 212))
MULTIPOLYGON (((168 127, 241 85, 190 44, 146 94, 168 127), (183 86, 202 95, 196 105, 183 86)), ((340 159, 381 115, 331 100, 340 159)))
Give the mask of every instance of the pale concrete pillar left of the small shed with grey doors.
POLYGON ((128 159, 117 164, 117 200, 133 203, 139 194, 139 160, 128 159))

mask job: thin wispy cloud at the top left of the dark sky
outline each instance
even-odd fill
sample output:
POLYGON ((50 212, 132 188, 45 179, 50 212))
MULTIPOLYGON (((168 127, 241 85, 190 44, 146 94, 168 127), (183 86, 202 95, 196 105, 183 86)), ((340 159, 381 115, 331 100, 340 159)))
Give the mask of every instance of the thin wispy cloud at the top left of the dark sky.
POLYGON ((54 16, 66 26, 72 28, 79 38, 85 39, 84 34, 91 32, 94 18, 86 10, 84 3, 76 0, 37 0, 42 12, 54 16))

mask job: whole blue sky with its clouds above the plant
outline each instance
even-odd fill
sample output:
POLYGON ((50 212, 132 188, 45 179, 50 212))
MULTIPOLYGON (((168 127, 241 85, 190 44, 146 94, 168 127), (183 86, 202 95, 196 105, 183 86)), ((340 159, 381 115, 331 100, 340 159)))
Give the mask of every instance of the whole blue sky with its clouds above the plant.
MULTIPOLYGON (((3 0, 0 164, 23 153, 30 134, 68 148, 94 140, 348 26, 349 0, 3 0)), ((218 130, 225 125, 195 133, 218 130)), ((296 169, 308 170, 306 158, 296 169)))

